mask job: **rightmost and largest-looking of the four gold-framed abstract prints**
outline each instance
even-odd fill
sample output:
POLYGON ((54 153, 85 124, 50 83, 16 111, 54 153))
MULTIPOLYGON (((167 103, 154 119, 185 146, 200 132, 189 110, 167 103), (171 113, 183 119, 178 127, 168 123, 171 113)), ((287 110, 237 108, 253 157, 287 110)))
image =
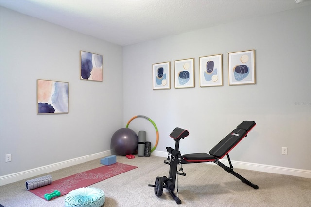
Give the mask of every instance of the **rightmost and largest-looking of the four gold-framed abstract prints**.
POLYGON ((255 50, 228 53, 229 85, 256 84, 255 50))

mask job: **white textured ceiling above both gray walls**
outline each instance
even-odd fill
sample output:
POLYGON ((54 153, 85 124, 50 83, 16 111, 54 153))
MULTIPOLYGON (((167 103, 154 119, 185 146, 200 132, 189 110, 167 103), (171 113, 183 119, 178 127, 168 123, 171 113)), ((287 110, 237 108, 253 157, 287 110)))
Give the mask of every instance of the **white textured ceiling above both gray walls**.
POLYGON ((1 0, 1 6, 125 46, 302 6, 294 0, 1 0))

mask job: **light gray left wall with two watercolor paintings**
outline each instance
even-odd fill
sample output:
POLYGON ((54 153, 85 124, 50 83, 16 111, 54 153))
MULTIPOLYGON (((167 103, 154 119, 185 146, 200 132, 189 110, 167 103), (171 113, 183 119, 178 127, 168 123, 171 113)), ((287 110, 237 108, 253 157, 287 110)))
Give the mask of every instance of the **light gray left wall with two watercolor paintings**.
POLYGON ((1 176, 110 150, 122 77, 121 46, 1 7, 1 176), (103 55, 103 82, 79 79, 80 50, 103 55), (37 79, 69 82, 68 114, 36 114, 37 79))

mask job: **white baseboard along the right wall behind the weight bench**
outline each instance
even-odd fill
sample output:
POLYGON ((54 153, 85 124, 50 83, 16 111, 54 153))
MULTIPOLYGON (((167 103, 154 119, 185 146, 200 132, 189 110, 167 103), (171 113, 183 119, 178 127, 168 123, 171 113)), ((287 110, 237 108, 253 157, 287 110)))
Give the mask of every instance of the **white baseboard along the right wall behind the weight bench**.
MULTIPOLYGON (((153 151, 153 156, 160 156, 160 157, 167 157, 167 152, 163 151, 153 151)), ((229 166, 229 162, 226 159, 220 160, 225 165, 229 166)), ((240 161, 233 161, 231 163, 234 168, 240 168, 244 170, 251 170, 251 171, 259 171, 265 173, 276 173, 276 174, 285 174, 285 175, 293 175, 297 177, 304 177, 304 178, 311 178, 311 171, 310 170, 302 170, 302 169, 295 169, 295 168, 286 168, 280 166, 273 166, 273 165, 263 165, 257 163, 249 163, 249 162, 240 162, 240 161)), ((210 163, 212 164, 212 163, 210 163)))

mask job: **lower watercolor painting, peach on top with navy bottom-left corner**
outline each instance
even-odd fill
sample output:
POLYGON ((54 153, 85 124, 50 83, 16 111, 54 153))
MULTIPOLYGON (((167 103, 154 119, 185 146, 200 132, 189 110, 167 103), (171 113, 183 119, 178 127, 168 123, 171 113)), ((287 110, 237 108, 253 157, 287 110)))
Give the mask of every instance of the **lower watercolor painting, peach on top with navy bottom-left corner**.
POLYGON ((68 113, 68 82, 37 80, 37 113, 68 113))

